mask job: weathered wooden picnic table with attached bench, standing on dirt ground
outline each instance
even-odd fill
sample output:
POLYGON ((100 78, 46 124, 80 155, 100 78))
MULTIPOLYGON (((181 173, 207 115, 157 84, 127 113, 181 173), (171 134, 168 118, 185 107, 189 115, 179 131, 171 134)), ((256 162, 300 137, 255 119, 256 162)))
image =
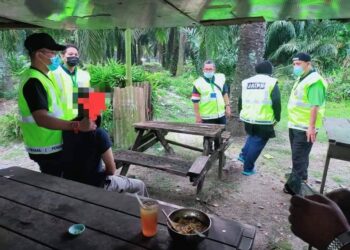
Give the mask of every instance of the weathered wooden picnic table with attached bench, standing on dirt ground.
POLYGON ((134 127, 137 131, 137 137, 130 150, 122 150, 114 154, 117 166, 122 167, 121 175, 127 174, 131 164, 162 170, 183 177, 188 176, 193 186, 197 186, 197 193, 199 193, 206 173, 213 163, 219 159, 218 176, 221 178, 222 168, 225 164, 224 152, 231 142, 230 133, 224 132, 224 125, 147 121, 135 123, 134 127), (169 132, 202 136, 203 148, 169 140, 165 138, 169 132), (211 143, 214 140, 219 142, 219 147, 211 151, 211 143), (161 143, 168 156, 154 156, 142 153, 157 142, 161 143), (174 150, 169 144, 202 152, 202 156, 198 157, 194 162, 174 158, 174 150))

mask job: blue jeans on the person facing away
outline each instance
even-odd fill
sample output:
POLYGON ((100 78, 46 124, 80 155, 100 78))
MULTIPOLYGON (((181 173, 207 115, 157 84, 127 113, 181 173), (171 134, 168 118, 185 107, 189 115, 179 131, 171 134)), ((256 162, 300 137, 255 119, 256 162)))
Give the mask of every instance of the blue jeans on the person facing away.
POLYGON ((250 172, 254 169, 255 161, 258 159, 268 140, 268 138, 248 135, 245 145, 239 154, 239 156, 244 160, 244 171, 250 172))

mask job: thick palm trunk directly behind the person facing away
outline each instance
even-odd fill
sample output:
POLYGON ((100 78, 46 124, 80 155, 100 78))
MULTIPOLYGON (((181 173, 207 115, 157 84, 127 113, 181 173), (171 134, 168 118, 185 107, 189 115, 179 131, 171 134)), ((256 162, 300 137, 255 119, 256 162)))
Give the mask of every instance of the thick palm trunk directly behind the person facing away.
POLYGON ((255 74, 255 65, 263 60, 265 51, 266 23, 243 24, 239 30, 238 60, 235 81, 230 90, 233 117, 227 128, 234 136, 244 135, 243 123, 239 121, 238 101, 242 95, 242 80, 255 74))

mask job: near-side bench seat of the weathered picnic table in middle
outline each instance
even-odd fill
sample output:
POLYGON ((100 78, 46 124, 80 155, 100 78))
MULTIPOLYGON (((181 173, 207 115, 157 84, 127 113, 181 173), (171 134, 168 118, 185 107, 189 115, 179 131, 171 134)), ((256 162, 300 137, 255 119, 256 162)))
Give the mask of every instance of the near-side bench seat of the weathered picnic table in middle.
POLYGON ((157 169, 179 176, 190 178, 197 193, 202 189, 204 177, 209 170, 209 156, 199 156, 194 163, 182 159, 165 156, 149 155, 131 150, 121 150, 114 153, 117 167, 122 167, 121 175, 126 175, 130 164, 157 169))

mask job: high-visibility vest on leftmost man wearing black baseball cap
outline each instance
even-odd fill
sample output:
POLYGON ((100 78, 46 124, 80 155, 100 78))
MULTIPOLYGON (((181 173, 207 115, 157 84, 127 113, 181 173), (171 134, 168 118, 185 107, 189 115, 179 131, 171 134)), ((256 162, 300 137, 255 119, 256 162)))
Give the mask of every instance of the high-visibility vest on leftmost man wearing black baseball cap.
POLYGON ((59 119, 63 117, 57 86, 40 71, 28 69, 22 79, 18 96, 18 107, 21 115, 20 127, 23 133, 25 148, 30 154, 51 154, 61 151, 62 131, 39 127, 24 98, 23 87, 30 78, 38 79, 46 90, 49 115, 59 119))

